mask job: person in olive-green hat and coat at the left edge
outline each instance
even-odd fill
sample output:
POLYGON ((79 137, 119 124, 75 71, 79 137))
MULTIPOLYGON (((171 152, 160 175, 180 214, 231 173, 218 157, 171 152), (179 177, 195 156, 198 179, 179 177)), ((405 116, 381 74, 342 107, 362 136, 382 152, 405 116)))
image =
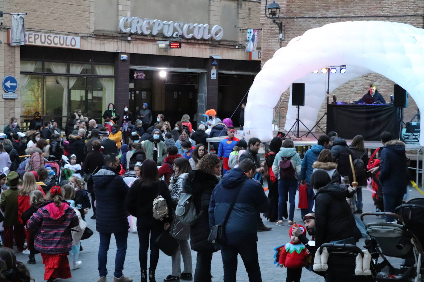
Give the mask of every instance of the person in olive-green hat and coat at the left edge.
POLYGON ((3 245, 13 249, 13 239, 19 252, 24 249, 25 230, 18 221, 18 186, 21 183, 19 174, 11 171, 6 178, 6 186, 9 189, 1 194, 0 208, 4 213, 4 242, 3 245))

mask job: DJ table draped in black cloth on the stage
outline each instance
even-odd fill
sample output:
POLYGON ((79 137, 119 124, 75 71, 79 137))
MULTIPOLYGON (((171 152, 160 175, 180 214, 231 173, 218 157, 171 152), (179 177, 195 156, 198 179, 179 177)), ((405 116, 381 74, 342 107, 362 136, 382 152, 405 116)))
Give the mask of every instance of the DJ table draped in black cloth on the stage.
POLYGON ((384 131, 398 137, 399 127, 399 108, 393 105, 328 104, 327 132, 344 139, 362 135, 366 141, 380 141, 384 131))

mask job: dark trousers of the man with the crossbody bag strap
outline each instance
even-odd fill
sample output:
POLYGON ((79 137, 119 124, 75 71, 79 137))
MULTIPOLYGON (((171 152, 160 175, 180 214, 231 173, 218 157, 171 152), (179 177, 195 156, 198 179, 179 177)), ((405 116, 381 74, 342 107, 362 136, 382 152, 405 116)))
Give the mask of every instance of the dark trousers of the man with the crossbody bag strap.
POLYGON ((250 282, 262 282, 258 261, 256 242, 240 245, 221 245, 222 263, 224 265, 224 282, 235 282, 237 274, 237 255, 240 254, 250 282))

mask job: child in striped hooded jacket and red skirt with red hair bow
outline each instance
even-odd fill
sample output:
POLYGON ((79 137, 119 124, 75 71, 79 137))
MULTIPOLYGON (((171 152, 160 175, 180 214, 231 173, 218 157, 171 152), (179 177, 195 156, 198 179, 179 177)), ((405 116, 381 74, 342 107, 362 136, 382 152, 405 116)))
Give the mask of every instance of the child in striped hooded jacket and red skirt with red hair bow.
POLYGON ((50 189, 49 200, 28 220, 27 229, 36 229, 35 249, 45 264, 44 279, 71 278, 68 255, 71 250, 71 229, 79 223, 73 208, 62 200, 61 188, 50 189))

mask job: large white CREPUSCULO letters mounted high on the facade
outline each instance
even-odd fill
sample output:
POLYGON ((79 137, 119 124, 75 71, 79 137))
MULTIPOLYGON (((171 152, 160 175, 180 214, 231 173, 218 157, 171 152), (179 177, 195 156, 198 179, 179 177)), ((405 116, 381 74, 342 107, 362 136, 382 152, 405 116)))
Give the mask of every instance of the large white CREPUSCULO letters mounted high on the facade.
POLYGON ((141 19, 133 16, 123 16, 119 22, 123 33, 153 35, 162 31, 165 37, 179 37, 190 39, 220 40, 224 30, 220 25, 214 25, 209 32, 207 24, 191 24, 184 22, 161 21, 160 19, 141 19), (126 23, 128 23, 126 25, 126 23))

